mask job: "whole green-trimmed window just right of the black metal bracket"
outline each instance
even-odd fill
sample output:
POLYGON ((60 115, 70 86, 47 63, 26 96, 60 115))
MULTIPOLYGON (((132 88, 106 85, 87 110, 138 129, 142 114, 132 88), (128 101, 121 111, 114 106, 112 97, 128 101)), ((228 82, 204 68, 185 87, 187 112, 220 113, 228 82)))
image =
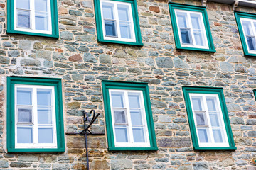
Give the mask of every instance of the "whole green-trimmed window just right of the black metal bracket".
POLYGON ((102 81, 109 150, 157 150, 145 83, 102 81))

